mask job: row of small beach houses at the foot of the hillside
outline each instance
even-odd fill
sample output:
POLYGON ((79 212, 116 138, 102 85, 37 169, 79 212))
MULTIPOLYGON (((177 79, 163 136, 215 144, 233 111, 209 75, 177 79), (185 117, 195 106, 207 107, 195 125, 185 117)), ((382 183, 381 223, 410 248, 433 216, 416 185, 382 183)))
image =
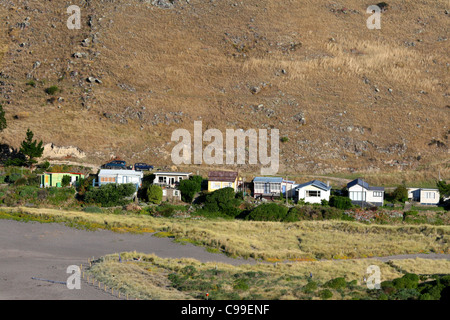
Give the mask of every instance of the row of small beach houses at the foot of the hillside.
MULTIPOLYGON (((45 172, 41 176, 42 187, 59 187, 64 175, 71 177, 74 185, 80 178, 81 173, 67 172, 45 172)), ((189 179, 192 172, 154 172, 153 184, 163 189, 163 201, 181 201, 181 192, 177 189, 183 179, 189 179)), ((94 186, 108 183, 133 183, 136 190, 142 186, 144 173, 136 170, 100 169, 94 186)), ((208 174, 209 192, 230 187, 235 192, 251 190, 251 195, 257 199, 273 200, 280 197, 289 198, 296 202, 303 199, 305 203, 321 203, 322 200, 329 201, 331 186, 328 182, 312 180, 297 184, 282 177, 254 177, 252 181, 245 182, 238 172, 234 171, 211 171, 208 174)), ((363 179, 355 179, 347 184, 348 197, 353 204, 365 207, 382 206, 384 203, 384 187, 369 185, 363 179)), ((439 203, 439 190, 432 188, 408 188, 409 201, 420 205, 437 205, 439 203)))

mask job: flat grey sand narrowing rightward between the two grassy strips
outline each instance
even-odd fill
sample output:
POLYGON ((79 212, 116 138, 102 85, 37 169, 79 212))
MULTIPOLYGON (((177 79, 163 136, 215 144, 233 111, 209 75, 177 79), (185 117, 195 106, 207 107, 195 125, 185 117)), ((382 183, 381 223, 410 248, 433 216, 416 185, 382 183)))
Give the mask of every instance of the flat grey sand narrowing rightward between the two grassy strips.
MULTIPOLYGON (((124 251, 154 253, 165 258, 190 257, 202 262, 229 264, 255 263, 207 252, 190 244, 180 245, 168 238, 150 234, 118 234, 106 230, 84 231, 61 224, 41 224, 0 220, 0 299, 1 300, 105 300, 116 299, 82 283, 80 290, 69 290, 65 284, 32 278, 65 282, 70 265, 86 264, 89 257, 124 251)), ((450 259, 450 255, 401 255, 379 258, 414 257, 450 259)))

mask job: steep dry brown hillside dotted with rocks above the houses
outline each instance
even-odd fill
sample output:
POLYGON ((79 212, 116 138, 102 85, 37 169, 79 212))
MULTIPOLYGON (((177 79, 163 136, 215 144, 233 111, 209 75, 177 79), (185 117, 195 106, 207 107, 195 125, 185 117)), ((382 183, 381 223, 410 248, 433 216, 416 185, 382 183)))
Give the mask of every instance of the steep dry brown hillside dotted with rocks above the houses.
POLYGON ((201 120, 224 134, 279 129, 280 174, 446 175, 448 1, 389 1, 380 30, 366 27, 371 4, 2 1, 3 143, 19 147, 30 128, 86 155, 69 160, 171 166, 172 132, 201 120), (66 27, 72 4, 80 30, 66 27))

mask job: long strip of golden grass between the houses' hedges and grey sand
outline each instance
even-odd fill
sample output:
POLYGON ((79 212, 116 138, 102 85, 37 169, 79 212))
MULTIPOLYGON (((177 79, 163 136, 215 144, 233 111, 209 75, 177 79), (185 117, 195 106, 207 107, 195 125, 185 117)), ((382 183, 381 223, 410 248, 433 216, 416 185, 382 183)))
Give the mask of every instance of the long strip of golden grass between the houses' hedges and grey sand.
POLYGON ((63 222, 91 230, 157 232, 157 236, 202 245, 212 252, 272 262, 450 253, 450 226, 175 219, 24 207, 4 207, 0 218, 63 222))

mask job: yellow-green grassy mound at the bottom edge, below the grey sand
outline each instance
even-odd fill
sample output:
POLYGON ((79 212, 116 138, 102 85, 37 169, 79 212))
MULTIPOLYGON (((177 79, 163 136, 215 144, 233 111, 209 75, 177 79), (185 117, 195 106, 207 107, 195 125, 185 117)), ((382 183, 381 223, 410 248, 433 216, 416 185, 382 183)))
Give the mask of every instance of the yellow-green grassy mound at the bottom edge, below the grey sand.
MULTIPOLYGON (((297 299, 422 299, 423 289, 404 288, 395 279, 404 276, 392 263, 371 259, 310 261, 232 266, 201 263, 194 259, 164 259, 136 252, 108 255, 89 268, 90 276, 123 296, 152 300, 297 300, 297 299), (368 289, 369 266, 380 268, 382 284, 397 288, 368 289), (312 277, 310 277, 310 272, 312 277), (392 281, 394 280, 394 281, 392 281), (385 290, 386 289, 386 290, 385 290)), ((402 260, 405 269, 426 270, 421 286, 430 285, 433 274, 449 273, 450 261, 402 260)), ((448 276, 447 276, 448 278, 448 276)), ((424 296, 425 297, 425 296, 424 296)), ((439 294, 432 297, 439 299, 439 294)))

